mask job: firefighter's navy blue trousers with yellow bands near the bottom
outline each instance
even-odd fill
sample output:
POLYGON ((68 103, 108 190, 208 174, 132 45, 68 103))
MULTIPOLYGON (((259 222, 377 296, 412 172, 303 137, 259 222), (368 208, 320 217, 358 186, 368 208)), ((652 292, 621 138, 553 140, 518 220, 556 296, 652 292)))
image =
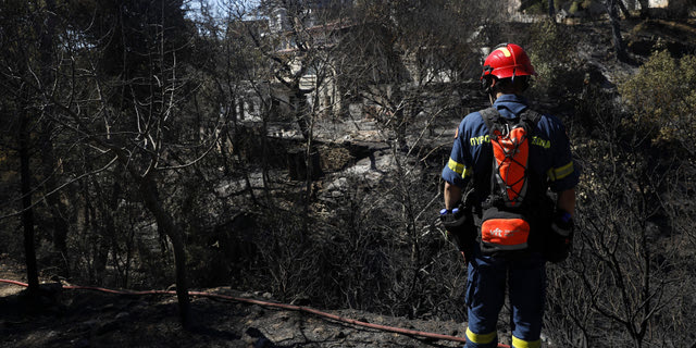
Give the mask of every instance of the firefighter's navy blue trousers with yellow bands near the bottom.
POLYGON ((496 324, 505 303, 506 285, 511 313, 512 347, 538 348, 546 298, 545 260, 539 253, 521 258, 489 257, 475 248, 469 263, 467 348, 495 348, 496 324))

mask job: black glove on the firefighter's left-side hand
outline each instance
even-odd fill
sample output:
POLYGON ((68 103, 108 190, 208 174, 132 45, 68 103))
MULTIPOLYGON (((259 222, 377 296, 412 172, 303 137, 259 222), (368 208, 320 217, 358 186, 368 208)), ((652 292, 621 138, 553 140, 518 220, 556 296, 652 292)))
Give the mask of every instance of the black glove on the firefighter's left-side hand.
POLYGON ((471 256, 476 239, 476 229, 470 209, 463 206, 450 210, 443 209, 439 219, 447 231, 447 240, 462 252, 464 260, 471 256))

